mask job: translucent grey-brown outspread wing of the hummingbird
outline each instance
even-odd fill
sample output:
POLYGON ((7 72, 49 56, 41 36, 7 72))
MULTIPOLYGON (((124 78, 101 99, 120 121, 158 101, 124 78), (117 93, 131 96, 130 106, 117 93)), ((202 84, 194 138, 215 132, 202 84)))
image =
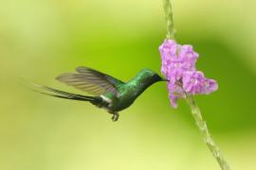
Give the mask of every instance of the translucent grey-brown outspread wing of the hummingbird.
POLYGON ((57 76, 56 79, 86 93, 95 95, 115 93, 115 95, 119 97, 118 88, 123 84, 119 79, 88 67, 77 67, 76 71, 77 73, 57 76))

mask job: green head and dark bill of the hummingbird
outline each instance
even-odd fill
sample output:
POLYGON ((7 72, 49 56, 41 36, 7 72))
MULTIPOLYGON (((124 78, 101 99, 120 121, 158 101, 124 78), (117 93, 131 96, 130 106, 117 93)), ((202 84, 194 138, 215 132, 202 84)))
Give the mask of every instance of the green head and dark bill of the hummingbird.
POLYGON ((137 76, 140 76, 141 79, 151 83, 155 83, 158 81, 168 81, 168 79, 159 76, 157 73, 155 73, 154 70, 151 69, 143 69, 137 74, 137 76))

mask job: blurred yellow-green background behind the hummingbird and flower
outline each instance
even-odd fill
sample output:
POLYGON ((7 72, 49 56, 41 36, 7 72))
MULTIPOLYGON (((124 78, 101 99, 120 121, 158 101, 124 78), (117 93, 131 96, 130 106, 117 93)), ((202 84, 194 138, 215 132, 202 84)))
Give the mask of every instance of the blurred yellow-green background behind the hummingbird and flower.
MULTIPOLYGON (((197 96, 233 170, 256 169, 256 2, 176 0, 180 43, 219 91, 197 96)), ((122 80, 149 67, 166 34, 161 0, 0 2, 1 170, 215 170, 189 107, 170 107, 157 83, 119 122, 88 103, 33 93, 19 79, 76 92, 54 80, 84 65, 122 80)))

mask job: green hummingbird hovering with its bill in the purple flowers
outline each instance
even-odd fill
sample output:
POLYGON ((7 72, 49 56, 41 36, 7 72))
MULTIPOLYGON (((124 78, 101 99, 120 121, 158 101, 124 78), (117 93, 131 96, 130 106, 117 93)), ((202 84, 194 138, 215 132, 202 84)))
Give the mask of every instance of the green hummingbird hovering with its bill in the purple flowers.
POLYGON ((148 87, 158 81, 168 81, 151 69, 143 69, 131 80, 123 82, 113 76, 83 66, 77 67, 76 73, 63 74, 57 76, 56 79, 93 96, 66 93, 36 84, 41 90, 37 92, 65 99, 88 101, 113 114, 114 122, 119 119, 119 111, 130 107, 148 87))

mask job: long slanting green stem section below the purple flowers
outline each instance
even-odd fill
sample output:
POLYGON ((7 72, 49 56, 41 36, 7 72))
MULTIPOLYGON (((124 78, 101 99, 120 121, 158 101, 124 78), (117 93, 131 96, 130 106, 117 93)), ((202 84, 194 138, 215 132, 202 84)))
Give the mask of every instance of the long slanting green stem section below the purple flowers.
POLYGON ((201 111, 199 110, 198 106, 196 105, 193 96, 187 95, 186 99, 187 99, 188 104, 191 107, 192 116, 195 120, 196 126, 201 131, 201 133, 204 137, 204 141, 208 145, 210 152, 212 153, 212 155, 214 156, 216 161, 218 161, 222 170, 230 170, 228 162, 224 160, 219 147, 215 144, 215 142, 211 138, 206 121, 204 121, 201 111))

